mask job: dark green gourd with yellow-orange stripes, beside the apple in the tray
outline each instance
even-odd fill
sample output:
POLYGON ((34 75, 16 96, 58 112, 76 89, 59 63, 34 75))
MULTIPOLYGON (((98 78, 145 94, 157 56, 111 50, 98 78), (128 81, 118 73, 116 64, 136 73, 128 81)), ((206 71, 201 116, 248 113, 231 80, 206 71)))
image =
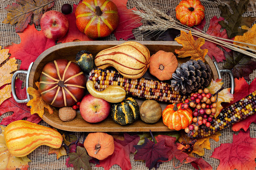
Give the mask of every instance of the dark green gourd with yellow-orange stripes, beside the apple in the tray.
POLYGON ((139 115, 139 105, 132 97, 127 97, 120 103, 114 103, 111 107, 111 116, 114 122, 121 125, 133 123, 139 118, 139 115))

